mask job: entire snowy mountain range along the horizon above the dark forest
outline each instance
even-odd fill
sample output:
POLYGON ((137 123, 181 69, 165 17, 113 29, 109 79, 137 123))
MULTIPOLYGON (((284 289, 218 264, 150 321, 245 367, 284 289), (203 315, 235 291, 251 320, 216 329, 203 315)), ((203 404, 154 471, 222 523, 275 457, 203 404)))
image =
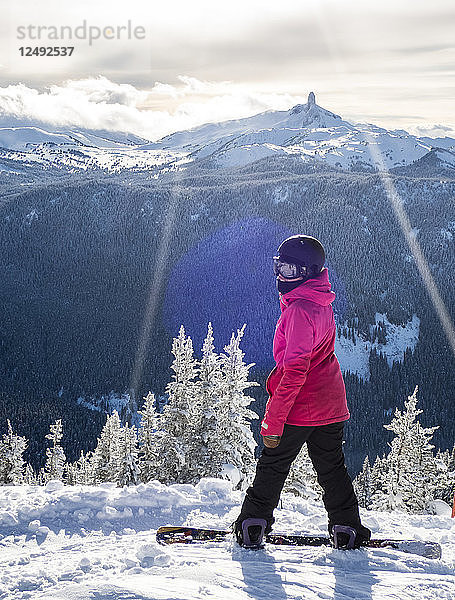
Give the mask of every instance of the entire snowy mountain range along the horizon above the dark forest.
POLYGON ((10 160, 39 158, 47 166, 79 170, 151 170, 155 176, 191 164, 242 167, 276 156, 334 169, 371 170, 377 150, 389 169, 407 167, 430 156, 436 169, 455 170, 455 139, 419 138, 404 130, 350 123, 319 106, 313 92, 306 104, 287 111, 207 123, 156 142, 125 132, 47 131, 42 126, 27 126, 1 128, 0 147, 16 151, 3 151, 2 156, 10 160))

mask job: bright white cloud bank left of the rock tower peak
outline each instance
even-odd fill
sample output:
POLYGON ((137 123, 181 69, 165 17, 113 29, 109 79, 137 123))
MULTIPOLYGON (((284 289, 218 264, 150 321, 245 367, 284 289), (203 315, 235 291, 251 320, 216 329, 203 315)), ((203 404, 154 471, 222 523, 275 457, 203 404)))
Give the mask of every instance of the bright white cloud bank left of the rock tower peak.
POLYGON ((285 110, 303 100, 187 75, 180 75, 176 85, 156 82, 148 90, 99 76, 67 80, 44 91, 22 83, 0 88, 0 125, 129 131, 153 140, 209 121, 285 110))

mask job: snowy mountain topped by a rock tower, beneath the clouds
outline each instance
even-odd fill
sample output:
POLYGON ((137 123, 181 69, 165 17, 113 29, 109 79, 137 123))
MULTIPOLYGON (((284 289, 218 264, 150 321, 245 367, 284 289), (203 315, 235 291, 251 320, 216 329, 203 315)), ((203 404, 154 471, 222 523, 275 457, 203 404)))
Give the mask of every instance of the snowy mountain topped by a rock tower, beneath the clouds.
MULTIPOLYGON (((427 138, 428 139, 428 138, 427 138)), ((432 146, 405 131, 387 131, 369 124, 352 124, 316 104, 313 92, 306 104, 288 111, 203 125, 166 136, 153 149, 189 152, 193 160, 210 158, 213 166, 243 166, 267 156, 293 156, 332 167, 371 168, 369 144, 379 147, 389 168, 408 165, 432 146)), ((455 147, 451 140, 450 147, 455 147)))

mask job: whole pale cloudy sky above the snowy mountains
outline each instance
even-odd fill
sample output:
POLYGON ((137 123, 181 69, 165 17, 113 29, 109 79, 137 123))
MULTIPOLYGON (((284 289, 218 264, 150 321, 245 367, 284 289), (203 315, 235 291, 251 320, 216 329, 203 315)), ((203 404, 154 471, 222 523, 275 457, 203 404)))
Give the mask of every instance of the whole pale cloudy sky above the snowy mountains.
POLYGON ((453 0, 0 1, 1 127, 158 139, 314 91, 350 121, 455 136, 453 0), (48 46, 74 50, 21 56, 48 46))

